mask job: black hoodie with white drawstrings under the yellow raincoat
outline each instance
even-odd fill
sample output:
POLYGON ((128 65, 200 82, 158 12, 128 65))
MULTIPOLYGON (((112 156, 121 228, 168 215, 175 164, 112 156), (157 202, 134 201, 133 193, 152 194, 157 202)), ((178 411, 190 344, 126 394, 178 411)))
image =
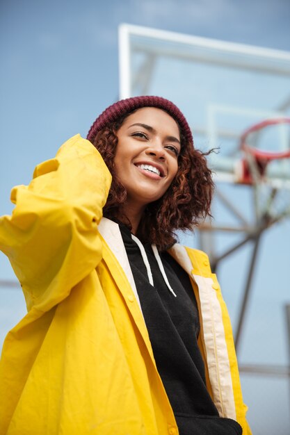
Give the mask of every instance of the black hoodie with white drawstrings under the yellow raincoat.
MULTIPOLYGON (((166 388, 180 435, 241 435, 238 422, 220 418, 207 391, 204 362, 198 347, 198 305, 188 274, 167 252, 136 243, 120 224, 122 239, 136 283, 141 309, 159 375, 166 388), (150 265, 149 279, 145 263, 150 265), (161 267, 162 267, 161 265, 161 267), (164 272, 166 277, 164 277, 164 272), (170 288, 166 284, 168 279, 170 288), (150 280, 154 281, 153 285, 150 280)), ((137 240, 138 242, 138 240, 137 240)))

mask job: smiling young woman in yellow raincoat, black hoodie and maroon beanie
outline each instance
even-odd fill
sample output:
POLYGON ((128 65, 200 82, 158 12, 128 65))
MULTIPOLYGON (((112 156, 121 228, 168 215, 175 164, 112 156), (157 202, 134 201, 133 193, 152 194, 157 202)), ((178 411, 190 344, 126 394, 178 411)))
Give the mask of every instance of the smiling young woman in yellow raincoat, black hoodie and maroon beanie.
POLYGON ((161 97, 113 104, 13 189, 0 247, 28 313, 3 345, 0 434, 250 434, 218 282, 175 240, 212 190, 161 97))

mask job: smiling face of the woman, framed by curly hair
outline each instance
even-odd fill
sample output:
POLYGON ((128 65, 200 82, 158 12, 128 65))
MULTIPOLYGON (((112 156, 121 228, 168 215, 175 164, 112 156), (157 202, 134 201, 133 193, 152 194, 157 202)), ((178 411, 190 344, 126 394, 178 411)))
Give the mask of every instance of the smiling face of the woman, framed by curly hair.
POLYGON ((117 133, 115 173, 127 190, 127 204, 145 206, 161 198, 177 173, 179 128, 159 108, 129 115, 117 133))

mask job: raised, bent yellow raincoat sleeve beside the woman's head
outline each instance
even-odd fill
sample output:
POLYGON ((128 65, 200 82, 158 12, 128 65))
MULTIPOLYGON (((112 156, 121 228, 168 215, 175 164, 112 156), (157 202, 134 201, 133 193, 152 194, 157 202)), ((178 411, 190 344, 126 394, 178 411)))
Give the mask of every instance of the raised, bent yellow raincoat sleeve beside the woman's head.
POLYGON ((28 310, 49 311, 101 260, 97 224, 110 185, 97 149, 76 135, 35 168, 29 186, 13 188, 13 213, 0 219, 0 249, 28 310))

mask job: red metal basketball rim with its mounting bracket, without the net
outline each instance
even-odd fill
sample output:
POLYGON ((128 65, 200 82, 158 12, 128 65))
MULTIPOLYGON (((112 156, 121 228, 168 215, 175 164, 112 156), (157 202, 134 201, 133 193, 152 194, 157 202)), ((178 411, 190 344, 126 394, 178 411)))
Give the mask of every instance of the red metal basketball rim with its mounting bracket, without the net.
POLYGON ((273 120, 265 120, 251 126, 241 136, 240 149, 243 152, 243 159, 236 171, 237 182, 241 184, 261 183, 265 179, 268 164, 290 158, 290 149, 283 151, 263 151, 249 144, 248 138, 252 133, 259 133, 268 126, 277 124, 290 124, 290 118, 283 117, 273 120))

